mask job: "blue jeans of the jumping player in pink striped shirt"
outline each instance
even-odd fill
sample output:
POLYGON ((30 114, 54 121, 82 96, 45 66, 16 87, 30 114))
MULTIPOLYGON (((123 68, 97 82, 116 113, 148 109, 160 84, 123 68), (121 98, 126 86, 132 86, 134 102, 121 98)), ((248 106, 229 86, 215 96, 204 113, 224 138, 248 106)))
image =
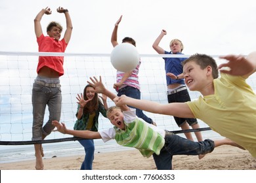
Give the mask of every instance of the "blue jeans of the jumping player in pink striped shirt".
MULTIPOLYGON (((127 97, 131 97, 133 99, 140 99, 140 90, 132 86, 126 86, 125 88, 121 88, 120 90, 118 90, 117 96, 120 97, 121 95, 126 95, 127 97)), ((131 108, 135 108, 135 107, 131 107, 131 108)), ((146 116, 143 113, 143 111, 140 110, 139 108, 136 108, 136 116, 138 116, 139 118, 142 118, 148 124, 152 124, 153 122, 153 120, 151 118, 148 118, 148 116, 146 116)))

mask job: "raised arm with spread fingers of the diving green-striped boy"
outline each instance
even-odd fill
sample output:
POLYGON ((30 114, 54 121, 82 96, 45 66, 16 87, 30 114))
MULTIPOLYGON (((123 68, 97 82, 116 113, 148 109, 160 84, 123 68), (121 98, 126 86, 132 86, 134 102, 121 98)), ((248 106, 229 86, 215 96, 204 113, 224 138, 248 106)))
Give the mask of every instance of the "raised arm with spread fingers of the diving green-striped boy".
MULTIPOLYGON (((93 88, 95 88, 96 93, 102 93, 107 97, 109 97, 110 99, 112 99, 112 101, 114 101, 114 98, 116 98, 117 95, 105 88, 104 84, 102 83, 101 76, 100 76, 100 80, 98 80, 95 76, 93 78, 90 77, 90 79, 91 79, 91 82, 89 81, 87 82, 88 84, 93 86, 93 88)), ((121 110, 129 110, 129 107, 127 107, 127 105, 119 105, 119 107, 121 108, 121 110)))

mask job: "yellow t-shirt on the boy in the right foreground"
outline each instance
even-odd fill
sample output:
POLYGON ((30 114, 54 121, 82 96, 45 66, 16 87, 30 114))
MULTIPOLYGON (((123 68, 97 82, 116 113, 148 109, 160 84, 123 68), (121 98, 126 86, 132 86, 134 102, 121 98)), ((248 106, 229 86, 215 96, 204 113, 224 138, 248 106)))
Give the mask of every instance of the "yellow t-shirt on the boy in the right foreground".
POLYGON ((195 118, 256 157, 256 95, 241 76, 221 74, 215 94, 187 102, 195 118))

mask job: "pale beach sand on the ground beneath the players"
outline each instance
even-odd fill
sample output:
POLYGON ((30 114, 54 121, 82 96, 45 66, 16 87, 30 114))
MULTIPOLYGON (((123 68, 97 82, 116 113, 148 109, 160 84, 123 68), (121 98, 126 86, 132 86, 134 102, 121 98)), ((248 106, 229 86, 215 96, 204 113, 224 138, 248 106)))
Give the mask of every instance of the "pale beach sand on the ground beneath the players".
MULTIPOLYGON (((47 170, 78 170, 84 156, 44 158, 47 170)), ((35 161, 1 163, 1 170, 33 170, 35 161)), ((174 156, 175 170, 256 170, 256 158, 247 150, 234 146, 220 146, 203 159, 198 156, 174 156)), ((144 158, 139 150, 125 150, 95 154, 94 170, 154 170, 154 159, 144 158)))

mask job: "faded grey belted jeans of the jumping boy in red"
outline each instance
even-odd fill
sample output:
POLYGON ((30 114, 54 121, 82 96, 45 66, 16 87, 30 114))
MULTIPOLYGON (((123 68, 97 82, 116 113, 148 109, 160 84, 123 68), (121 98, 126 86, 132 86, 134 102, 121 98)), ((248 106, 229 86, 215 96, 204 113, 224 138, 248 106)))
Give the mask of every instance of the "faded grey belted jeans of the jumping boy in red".
POLYGON ((32 105, 33 105, 33 126, 32 141, 39 141, 49 135, 54 126, 53 120, 60 121, 62 95, 58 78, 41 78, 37 76, 33 83, 32 105), (45 108, 49 109, 49 120, 43 126, 45 108))

